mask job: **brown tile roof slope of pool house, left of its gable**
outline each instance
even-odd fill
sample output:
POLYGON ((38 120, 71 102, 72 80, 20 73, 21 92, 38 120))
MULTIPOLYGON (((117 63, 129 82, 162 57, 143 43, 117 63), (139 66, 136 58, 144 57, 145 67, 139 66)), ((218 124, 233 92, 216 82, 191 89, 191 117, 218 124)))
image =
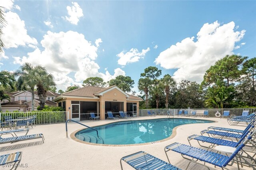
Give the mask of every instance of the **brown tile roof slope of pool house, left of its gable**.
POLYGON ((66 93, 62 93, 61 95, 95 97, 94 94, 98 93, 98 91, 101 91, 102 89, 106 89, 106 88, 105 87, 86 86, 86 87, 81 87, 79 89, 74 89, 72 91, 68 91, 66 93))

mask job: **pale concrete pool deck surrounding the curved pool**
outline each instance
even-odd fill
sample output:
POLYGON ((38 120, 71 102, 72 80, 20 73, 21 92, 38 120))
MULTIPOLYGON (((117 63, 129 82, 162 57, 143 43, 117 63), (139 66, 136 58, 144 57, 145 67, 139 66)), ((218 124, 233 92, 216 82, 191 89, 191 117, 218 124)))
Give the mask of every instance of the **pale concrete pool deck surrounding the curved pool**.
MULTIPOLYGON (((166 118, 164 115, 157 115, 156 117, 138 117, 131 120, 144 120, 144 119, 159 119, 166 118)), ((143 150, 153 156, 156 156, 166 162, 168 162, 164 147, 174 142, 180 142, 183 144, 189 144, 187 137, 192 134, 200 134, 201 130, 207 129, 210 126, 237 128, 243 130, 243 126, 230 126, 226 119, 220 118, 191 118, 191 117, 174 117, 174 118, 189 118, 189 119, 204 119, 210 121, 216 121, 214 123, 200 123, 200 124, 186 124, 176 128, 175 132, 170 139, 163 142, 154 142, 152 144, 145 145, 132 145, 132 146, 96 146, 91 144, 84 144, 77 142, 70 138, 70 134, 75 130, 81 129, 82 126, 76 123, 68 123, 68 138, 66 138, 65 123, 51 124, 51 125, 37 125, 30 128, 28 134, 44 134, 44 143, 41 139, 26 140, 13 144, 1 144, 0 153, 7 154, 12 152, 22 151, 22 160, 20 164, 22 168, 18 170, 120 170, 120 158, 134 152, 143 150)), ((130 120, 130 119, 129 119, 130 120)), ((120 121, 126 121, 126 119, 120 119, 120 121)), ((116 122, 116 120, 103 120, 103 121, 80 121, 87 126, 94 127, 98 125, 104 125, 107 123, 116 122)), ((26 132, 17 132, 18 136, 24 135, 26 132)), ((2 137, 9 137, 11 135, 4 135, 2 137)), ((202 148, 196 141, 191 141, 192 146, 202 148)), ((178 168, 185 169, 189 163, 189 160, 182 158, 182 156, 176 152, 167 152, 171 164, 178 168)), ((203 163, 203 162, 200 162, 203 163)), ((133 168, 122 161, 124 170, 132 170, 133 168)), ((206 163, 210 169, 214 168, 213 165, 206 163)), ((2 168, 6 169, 6 168, 2 168)), ((204 166, 190 164, 189 169, 198 170, 206 169, 204 166)), ((228 169, 236 170, 237 165, 228 166, 228 169)), ((244 166, 243 169, 252 169, 244 166)))

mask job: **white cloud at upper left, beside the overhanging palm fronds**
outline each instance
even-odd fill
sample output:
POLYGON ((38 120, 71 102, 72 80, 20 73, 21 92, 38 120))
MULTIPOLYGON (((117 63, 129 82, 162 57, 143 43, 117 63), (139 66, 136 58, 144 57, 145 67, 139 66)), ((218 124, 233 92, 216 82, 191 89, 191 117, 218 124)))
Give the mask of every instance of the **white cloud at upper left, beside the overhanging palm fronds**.
POLYGON ((4 33, 2 41, 7 49, 11 47, 17 48, 19 45, 36 45, 38 43, 35 38, 27 34, 25 22, 20 20, 18 14, 9 11, 5 14, 5 19, 8 24, 2 28, 4 33))

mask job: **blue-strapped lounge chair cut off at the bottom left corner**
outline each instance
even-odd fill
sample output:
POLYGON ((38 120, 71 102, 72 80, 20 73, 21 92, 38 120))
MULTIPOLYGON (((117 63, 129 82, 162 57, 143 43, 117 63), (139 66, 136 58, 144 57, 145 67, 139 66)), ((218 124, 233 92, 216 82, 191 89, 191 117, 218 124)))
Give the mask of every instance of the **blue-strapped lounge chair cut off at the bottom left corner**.
POLYGON ((20 163, 21 158, 22 158, 22 152, 15 152, 11 154, 0 155, 0 166, 12 167, 11 169, 14 168, 14 170, 16 170, 18 168, 16 164, 18 165, 20 163), (10 164, 10 166, 7 164, 10 164))

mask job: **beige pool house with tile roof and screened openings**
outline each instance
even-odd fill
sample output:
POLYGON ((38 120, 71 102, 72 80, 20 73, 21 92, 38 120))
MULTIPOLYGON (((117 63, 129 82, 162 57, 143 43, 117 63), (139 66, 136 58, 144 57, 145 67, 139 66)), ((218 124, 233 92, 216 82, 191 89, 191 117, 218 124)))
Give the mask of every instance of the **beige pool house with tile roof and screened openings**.
POLYGON ((128 95, 117 86, 86 86, 63 93, 53 101, 57 106, 62 106, 69 111, 69 119, 83 121, 89 119, 90 112, 100 116, 101 120, 107 119, 107 111, 112 111, 114 117, 119 115, 119 111, 137 116, 139 101, 142 100, 128 95))

